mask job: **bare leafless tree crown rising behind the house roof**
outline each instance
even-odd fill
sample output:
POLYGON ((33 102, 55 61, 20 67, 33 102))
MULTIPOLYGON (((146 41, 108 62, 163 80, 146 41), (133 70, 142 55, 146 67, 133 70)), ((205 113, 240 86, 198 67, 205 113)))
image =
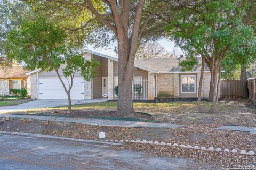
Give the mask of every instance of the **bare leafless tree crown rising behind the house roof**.
POLYGON ((136 53, 136 58, 143 60, 170 57, 173 57, 173 54, 167 52, 163 46, 154 41, 148 41, 147 43, 142 44, 136 53))

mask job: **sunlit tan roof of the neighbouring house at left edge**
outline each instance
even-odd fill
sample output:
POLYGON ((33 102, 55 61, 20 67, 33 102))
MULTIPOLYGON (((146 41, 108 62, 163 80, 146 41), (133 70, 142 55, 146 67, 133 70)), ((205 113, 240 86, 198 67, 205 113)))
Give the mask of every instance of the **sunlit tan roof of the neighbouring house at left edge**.
POLYGON ((25 67, 10 67, 5 70, 0 69, 0 78, 27 78, 26 73, 29 71, 25 67))

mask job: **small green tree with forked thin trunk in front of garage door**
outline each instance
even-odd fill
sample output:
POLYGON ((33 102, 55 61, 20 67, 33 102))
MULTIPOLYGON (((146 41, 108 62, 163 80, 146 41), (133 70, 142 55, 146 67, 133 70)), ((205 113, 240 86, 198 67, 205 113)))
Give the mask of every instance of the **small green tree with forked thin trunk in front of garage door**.
POLYGON ((18 30, 11 30, 7 35, 7 57, 20 63, 25 63, 27 69, 55 71, 68 95, 69 112, 71 112, 70 91, 76 72, 89 81, 95 76, 94 68, 97 61, 85 60, 83 55, 67 43, 65 31, 44 18, 33 21, 25 20, 18 30), (61 71, 61 72, 60 72, 61 71), (68 81, 65 86, 63 78, 68 81))

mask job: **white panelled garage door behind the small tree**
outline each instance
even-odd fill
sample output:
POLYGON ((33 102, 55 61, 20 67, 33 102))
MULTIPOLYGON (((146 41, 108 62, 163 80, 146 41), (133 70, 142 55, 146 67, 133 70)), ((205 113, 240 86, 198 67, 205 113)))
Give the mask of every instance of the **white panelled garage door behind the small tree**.
MULTIPOLYGON (((62 79, 66 87, 69 87, 67 79, 62 79)), ((67 100, 67 94, 59 78, 39 78, 38 98, 43 100, 67 100)), ((84 99, 84 79, 82 77, 74 78, 71 89, 71 100, 84 99)))

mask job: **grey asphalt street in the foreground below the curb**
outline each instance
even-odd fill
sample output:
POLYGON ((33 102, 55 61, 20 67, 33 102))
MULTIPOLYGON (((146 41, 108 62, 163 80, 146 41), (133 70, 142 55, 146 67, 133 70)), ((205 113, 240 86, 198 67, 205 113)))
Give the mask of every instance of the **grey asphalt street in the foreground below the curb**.
POLYGON ((109 145, 0 134, 0 169, 211 169, 190 159, 156 157, 109 145))

